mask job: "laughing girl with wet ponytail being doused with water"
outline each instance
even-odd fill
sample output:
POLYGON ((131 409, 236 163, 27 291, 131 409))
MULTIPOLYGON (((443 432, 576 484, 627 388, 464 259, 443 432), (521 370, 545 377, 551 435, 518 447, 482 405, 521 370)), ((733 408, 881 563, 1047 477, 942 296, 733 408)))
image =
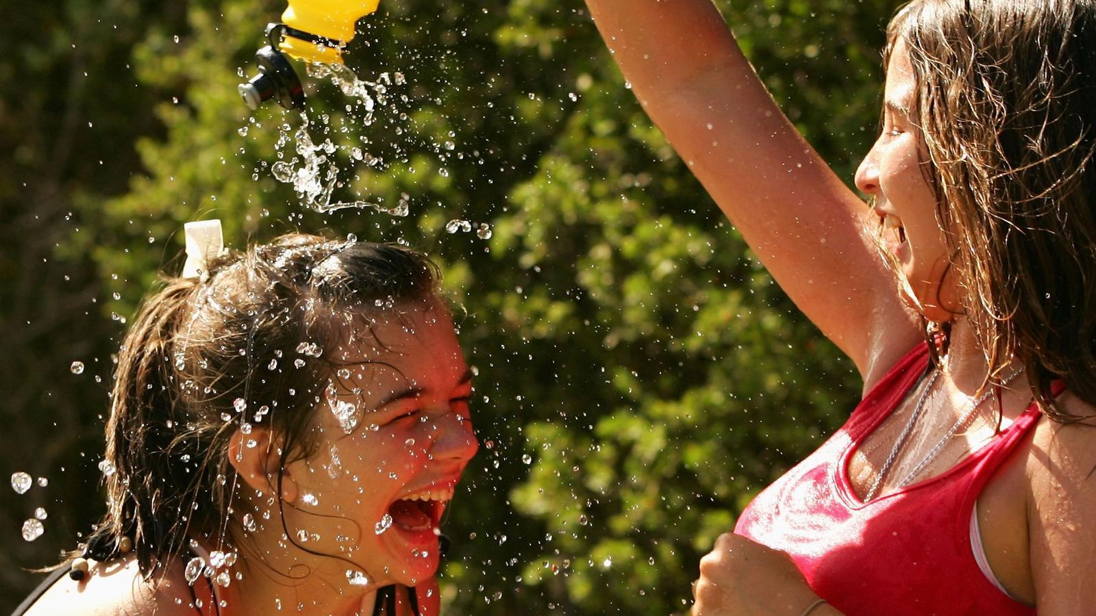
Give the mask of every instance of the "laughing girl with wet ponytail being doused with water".
POLYGON ((134 319, 107 514, 16 613, 437 614, 478 447, 437 267, 309 235, 212 252, 134 319))

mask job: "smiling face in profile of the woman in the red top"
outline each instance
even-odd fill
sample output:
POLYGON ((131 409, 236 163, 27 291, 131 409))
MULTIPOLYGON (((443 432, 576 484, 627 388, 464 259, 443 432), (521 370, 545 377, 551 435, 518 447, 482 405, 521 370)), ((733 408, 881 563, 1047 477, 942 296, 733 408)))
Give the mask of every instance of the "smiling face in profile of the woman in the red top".
POLYGON ((856 186, 875 197, 883 241, 909 283, 906 300, 931 321, 950 321, 956 287, 948 242, 925 179, 925 145, 911 110, 917 99, 913 66, 899 39, 887 68, 883 130, 856 171, 856 186))

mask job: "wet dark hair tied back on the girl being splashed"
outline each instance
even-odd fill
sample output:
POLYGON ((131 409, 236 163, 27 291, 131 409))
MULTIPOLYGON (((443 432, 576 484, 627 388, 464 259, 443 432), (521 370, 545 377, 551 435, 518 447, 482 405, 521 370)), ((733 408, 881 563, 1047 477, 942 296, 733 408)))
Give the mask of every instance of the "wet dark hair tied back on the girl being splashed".
POLYGON ((192 536, 233 543, 243 507, 232 507, 232 434, 277 435, 281 488, 285 465, 316 446, 309 427, 333 372, 326 350, 362 317, 433 298, 439 277, 408 248, 301 233, 208 270, 165 278, 118 353, 101 466, 107 513, 92 540, 116 554, 128 537, 145 575, 187 554, 192 536))

